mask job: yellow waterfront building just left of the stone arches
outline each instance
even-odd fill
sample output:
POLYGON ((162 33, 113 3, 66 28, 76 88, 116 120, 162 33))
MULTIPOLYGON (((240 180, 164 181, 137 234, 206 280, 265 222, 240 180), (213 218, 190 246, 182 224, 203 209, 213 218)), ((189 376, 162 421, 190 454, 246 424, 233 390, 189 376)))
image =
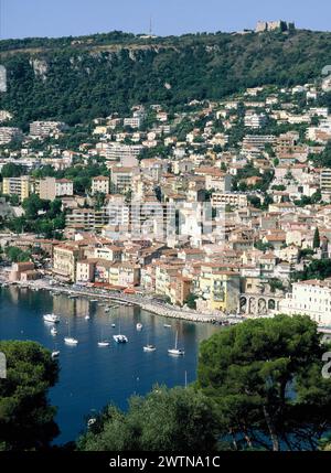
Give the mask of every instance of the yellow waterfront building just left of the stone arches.
POLYGON ((194 292, 201 299, 201 309, 236 313, 241 294, 239 273, 215 264, 203 265, 194 292))

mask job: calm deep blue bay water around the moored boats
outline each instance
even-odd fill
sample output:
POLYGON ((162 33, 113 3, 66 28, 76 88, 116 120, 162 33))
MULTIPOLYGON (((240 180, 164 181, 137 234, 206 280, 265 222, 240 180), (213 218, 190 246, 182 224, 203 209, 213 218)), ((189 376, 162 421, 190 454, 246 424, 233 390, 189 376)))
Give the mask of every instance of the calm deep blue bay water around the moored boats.
POLYGON ((157 383, 184 385, 185 372, 188 383, 193 381, 200 342, 220 330, 154 316, 138 308, 120 307, 109 313, 105 309, 87 298, 70 299, 15 287, 0 289, 0 340, 31 340, 61 352, 60 381, 50 393, 51 402, 58 409, 56 421, 61 429, 55 443, 76 439, 85 429, 86 417, 109 402, 126 409, 129 396, 143 395, 157 383), (42 318, 51 312, 61 315, 55 337, 42 318), (138 322, 143 324, 141 332, 136 329, 138 322), (164 323, 171 329, 164 329, 164 323), (119 324, 120 332, 129 338, 126 345, 113 341, 119 324), (77 346, 64 344, 68 331, 79 341, 77 346), (185 350, 181 358, 167 353, 174 345, 177 331, 179 345, 185 350), (110 341, 109 347, 98 347, 102 337, 110 341), (157 352, 145 353, 147 342, 157 345, 157 352))

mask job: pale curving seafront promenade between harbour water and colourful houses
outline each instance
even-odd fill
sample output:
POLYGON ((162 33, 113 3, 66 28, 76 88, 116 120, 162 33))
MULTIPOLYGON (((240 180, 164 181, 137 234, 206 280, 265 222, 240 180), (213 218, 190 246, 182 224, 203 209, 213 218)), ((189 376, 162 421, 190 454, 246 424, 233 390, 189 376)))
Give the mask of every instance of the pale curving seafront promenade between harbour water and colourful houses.
MULTIPOLYGON (((2 286, 9 283, 4 280, 0 280, 2 286)), ((150 312, 156 315, 164 318, 178 319, 183 321, 191 321, 196 323, 228 323, 239 322, 241 319, 236 316, 227 316, 218 313, 201 313, 190 309, 175 308, 174 305, 167 304, 159 300, 156 300, 151 295, 139 295, 139 294, 124 294, 116 291, 109 291, 99 288, 87 288, 52 283, 47 279, 40 279, 30 282, 15 282, 18 288, 29 288, 31 290, 49 290, 55 293, 63 293, 67 295, 87 297, 100 300, 113 301, 122 305, 137 305, 140 309, 150 312)))

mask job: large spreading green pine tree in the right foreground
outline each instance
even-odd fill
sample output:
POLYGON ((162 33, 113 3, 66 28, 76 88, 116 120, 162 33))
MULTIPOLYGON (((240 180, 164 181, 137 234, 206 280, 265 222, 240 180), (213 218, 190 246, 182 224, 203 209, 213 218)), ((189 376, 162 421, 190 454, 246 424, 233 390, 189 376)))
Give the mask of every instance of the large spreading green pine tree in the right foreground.
POLYGON ((243 449, 316 450, 331 428, 325 351, 308 316, 247 321, 203 342, 197 387, 217 404, 222 434, 243 449))

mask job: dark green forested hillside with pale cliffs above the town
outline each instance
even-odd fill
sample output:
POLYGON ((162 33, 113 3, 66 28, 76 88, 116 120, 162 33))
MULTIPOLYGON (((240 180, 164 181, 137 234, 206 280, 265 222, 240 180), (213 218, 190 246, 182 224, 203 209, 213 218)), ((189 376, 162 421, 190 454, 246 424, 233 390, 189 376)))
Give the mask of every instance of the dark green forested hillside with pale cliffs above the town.
POLYGON ((0 109, 20 126, 73 125, 137 103, 178 107, 244 87, 292 85, 331 64, 331 33, 196 34, 143 40, 113 32, 86 37, 0 42, 9 87, 0 109))

